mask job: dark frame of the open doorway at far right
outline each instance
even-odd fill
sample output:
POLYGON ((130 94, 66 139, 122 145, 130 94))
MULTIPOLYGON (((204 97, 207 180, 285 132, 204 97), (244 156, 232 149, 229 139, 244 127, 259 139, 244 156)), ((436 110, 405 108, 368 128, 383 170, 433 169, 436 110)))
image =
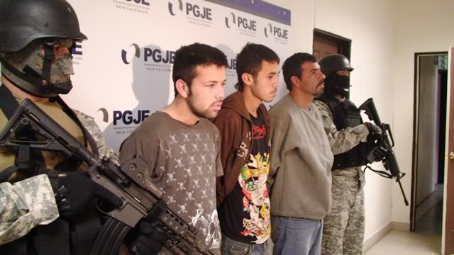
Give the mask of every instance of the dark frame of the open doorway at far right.
MULTIPOLYGON (((419 58, 448 55, 448 52, 416 52, 414 54, 414 100, 413 100, 413 153, 411 161, 411 198, 410 198, 410 231, 415 231, 416 224, 416 188, 418 165, 418 137, 419 137, 419 58)), ((449 84, 448 84, 449 86, 449 84)), ((446 105, 446 108, 449 106, 446 105)))

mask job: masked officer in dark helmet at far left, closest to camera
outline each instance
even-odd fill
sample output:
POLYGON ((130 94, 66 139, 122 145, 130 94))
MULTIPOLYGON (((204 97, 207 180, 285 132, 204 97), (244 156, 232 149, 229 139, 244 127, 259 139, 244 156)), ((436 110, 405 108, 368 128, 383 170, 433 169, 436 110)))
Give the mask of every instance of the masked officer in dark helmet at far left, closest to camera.
MULTIPOLYGON (((0 130, 28 98, 95 154, 113 154, 94 120, 59 96, 72 89, 74 40, 85 39, 65 0, 0 1, 0 130)), ((43 139, 27 129, 15 138, 43 139)), ((84 167, 26 143, 0 147, 0 254, 89 254, 101 227, 95 198, 122 201, 84 167)))

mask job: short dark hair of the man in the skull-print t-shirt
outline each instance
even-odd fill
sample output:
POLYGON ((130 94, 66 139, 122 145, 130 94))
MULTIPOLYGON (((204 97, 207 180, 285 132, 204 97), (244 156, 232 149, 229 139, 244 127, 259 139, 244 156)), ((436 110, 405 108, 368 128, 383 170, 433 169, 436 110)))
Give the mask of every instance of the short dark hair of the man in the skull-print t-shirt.
POLYGON ((192 80, 197 76, 196 68, 212 64, 216 67, 227 67, 226 55, 216 47, 198 42, 180 47, 175 52, 172 69, 175 97, 178 96, 177 86, 175 86, 177 80, 182 79, 190 87, 192 80))

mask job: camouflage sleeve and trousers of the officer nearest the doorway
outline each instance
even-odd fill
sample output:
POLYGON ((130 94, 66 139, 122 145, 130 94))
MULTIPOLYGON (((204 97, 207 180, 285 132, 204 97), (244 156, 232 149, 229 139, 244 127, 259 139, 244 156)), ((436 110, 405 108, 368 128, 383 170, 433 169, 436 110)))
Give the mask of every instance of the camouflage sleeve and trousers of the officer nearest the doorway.
MULTIPOLYGON (((360 142, 366 142, 369 131, 364 125, 337 130, 330 108, 314 101, 323 116, 323 127, 328 135, 333 154, 348 152, 360 142)), ((331 209, 323 222, 321 254, 362 254, 364 239, 364 173, 361 167, 331 171, 331 209)))

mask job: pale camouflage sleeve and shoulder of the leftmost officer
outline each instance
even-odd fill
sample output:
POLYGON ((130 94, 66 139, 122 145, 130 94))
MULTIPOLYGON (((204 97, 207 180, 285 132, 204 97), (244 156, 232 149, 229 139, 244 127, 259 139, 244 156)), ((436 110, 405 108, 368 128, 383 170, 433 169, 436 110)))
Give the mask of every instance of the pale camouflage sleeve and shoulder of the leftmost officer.
MULTIPOLYGON (((19 103, 20 100, 18 100, 19 103)), ((106 146, 106 141, 94 119, 74 111, 84 128, 92 135, 98 145, 99 155, 118 160, 114 151, 106 146)), ((6 125, 6 118, 0 111, 0 130, 6 125)), ((11 159, 3 159, 9 154, 0 153, 4 166, 11 159)), ((51 166, 48 166, 51 168, 51 166)), ((3 171, 1 169, 0 171, 3 171)), ((19 178, 20 179, 20 178, 19 178)), ((0 183, 0 245, 23 237, 37 225, 47 225, 59 216, 54 193, 48 176, 40 174, 14 184, 0 183)))

